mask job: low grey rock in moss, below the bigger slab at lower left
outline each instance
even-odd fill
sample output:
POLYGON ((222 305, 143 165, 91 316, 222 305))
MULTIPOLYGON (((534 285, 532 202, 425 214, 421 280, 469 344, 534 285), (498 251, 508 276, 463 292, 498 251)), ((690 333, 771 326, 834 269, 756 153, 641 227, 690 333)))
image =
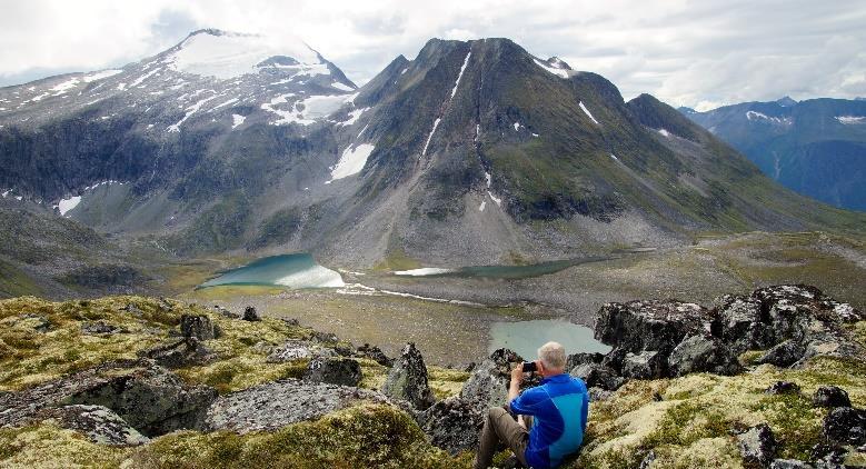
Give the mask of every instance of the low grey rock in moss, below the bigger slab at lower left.
POLYGON ((113 410, 102 406, 63 406, 44 409, 37 420, 53 420, 61 428, 77 430, 99 445, 137 446, 150 441, 120 418, 113 410))

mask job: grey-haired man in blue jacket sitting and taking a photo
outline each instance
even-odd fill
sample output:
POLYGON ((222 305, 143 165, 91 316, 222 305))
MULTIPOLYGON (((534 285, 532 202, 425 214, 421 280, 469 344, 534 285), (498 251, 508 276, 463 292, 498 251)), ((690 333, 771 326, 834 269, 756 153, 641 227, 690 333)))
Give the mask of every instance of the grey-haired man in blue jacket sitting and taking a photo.
POLYGON ((553 468, 580 448, 589 409, 589 396, 584 381, 565 372, 565 348, 547 342, 538 349, 536 371, 544 377, 540 386, 520 395, 524 363, 511 370, 508 405, 494 407, 485 417, 475 468, 490 466, 499 442, 507 445, 527 467, 553 468), (518 396, 519 395, 519 396, 518 396), (510 413, 524 418, 526 427, 510 413))

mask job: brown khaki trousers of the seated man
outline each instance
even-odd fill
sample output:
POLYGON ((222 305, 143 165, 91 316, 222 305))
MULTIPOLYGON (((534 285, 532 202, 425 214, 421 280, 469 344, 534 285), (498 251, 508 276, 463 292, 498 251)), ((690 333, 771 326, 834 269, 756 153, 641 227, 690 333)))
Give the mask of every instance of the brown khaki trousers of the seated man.
MULTIPOLYGON (((524 417, 524 421, 527 428, 531 427, 531 417, 524 417)), ((520 463, 529 467, 524 458, 526 447, 529 445, 529 432, 515 421, 506 408, 491 407, 485 416, 478 453, 475 456, 475 469, 490 467, 500 442, 514 451, 520 463)))

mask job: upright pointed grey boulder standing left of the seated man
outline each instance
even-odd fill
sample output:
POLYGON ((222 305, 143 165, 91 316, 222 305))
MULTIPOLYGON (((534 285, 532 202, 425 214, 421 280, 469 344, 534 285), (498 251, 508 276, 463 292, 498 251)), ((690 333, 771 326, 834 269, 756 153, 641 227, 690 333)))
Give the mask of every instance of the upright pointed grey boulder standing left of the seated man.
POLYGON ((404 347, 385 380, 382 392, 391 398, 408 401, 420 410, 432 406, 436 398, 427 382, 424 357, 415 343, 409 342, 404 347))

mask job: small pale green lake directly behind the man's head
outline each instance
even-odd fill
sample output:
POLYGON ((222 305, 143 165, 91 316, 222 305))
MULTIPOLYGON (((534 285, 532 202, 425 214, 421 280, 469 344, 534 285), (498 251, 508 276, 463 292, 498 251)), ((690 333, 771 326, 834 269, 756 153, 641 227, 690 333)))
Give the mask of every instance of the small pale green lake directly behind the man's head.
POLYGON ((566 355, 577 352, 607 353, 610 347, 593 337, 593 329, 557 319, 536 319, 518 322, 494 322, 490 326, 488 352, 508 348, 527 360, 537 358, 538 348, 548 341, 566 348, 566 355))

